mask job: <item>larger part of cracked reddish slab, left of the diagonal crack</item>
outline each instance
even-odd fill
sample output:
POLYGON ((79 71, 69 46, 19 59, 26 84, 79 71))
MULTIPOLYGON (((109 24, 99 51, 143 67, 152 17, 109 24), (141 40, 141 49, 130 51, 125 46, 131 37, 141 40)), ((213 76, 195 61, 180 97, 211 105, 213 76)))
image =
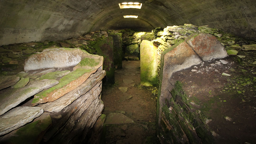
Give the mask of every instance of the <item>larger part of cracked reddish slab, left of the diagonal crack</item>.
POLYGON ((193 65, 202 63, 202 60, 197 56, 193 49, 183 40, 176 45, 166 49, 161 54, 161 73, 159 77, 159 89, 157 98, 157 134, 159 134, 160 121, 162 119, 162 107, 165 104, 165 99, 170 99, 172 95, 169 91, 172 90, 173 84, 169 82, 172 74, 176 71, 189 68, 193 65))

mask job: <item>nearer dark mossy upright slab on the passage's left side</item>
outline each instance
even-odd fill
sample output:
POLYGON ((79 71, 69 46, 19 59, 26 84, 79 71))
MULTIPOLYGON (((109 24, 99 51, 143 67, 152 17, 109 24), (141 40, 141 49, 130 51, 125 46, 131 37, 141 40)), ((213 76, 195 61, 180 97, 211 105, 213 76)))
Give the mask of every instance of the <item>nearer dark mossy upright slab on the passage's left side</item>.
POLYGON ((96 42, 93 47, 97 50, 97 54, 103 56, 103 70, 106 71, 106 77, 103 79, 104 83, 115 83, 115 69, 114 69, 114 47, 113 37, 106 37, 101 41, 96 42))

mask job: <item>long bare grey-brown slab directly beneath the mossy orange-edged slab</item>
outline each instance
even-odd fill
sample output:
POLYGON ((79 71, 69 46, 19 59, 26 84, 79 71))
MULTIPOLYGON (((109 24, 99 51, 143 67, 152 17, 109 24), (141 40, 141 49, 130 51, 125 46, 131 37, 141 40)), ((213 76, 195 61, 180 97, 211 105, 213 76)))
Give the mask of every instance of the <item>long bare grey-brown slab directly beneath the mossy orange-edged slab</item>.
POLYGON ((97 71, 95 74, 92 74, 92 76, 90 76, 79 87, 60 97, 56 101, 39 104, 37 105, 37 107, 44 108, 44 110, 48 112, 60 112, 62 109, 64 109, 77 98, 79 98, 81 95, 84 95, 89 90, 91 90, 91 88, 95 86, 98 82, 100 82, 105 75, 105 71, 97 71))

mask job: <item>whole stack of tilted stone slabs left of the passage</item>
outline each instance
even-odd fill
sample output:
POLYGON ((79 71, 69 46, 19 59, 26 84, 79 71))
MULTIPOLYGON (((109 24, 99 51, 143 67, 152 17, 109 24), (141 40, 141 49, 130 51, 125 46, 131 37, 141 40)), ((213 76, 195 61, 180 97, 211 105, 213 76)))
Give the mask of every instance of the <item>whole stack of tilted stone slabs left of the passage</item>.
POLYGON ((99 135, 93 126, 103 109, 102 66, 102 56, 80 48, 48 48, 28 57, 24 72, 1 76, 0 143, 77 143, 90 139, 90 130, 99 135))

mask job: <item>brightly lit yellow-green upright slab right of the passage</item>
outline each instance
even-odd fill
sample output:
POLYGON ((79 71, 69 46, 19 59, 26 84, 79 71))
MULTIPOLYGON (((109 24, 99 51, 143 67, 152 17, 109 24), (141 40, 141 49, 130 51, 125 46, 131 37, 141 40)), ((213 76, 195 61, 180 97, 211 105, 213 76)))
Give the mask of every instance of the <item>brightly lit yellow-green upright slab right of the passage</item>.
POLYGON ((143 40, 141 42, 141 85, 156 86, 157 78, 157 47, 153 42, 143 40))

